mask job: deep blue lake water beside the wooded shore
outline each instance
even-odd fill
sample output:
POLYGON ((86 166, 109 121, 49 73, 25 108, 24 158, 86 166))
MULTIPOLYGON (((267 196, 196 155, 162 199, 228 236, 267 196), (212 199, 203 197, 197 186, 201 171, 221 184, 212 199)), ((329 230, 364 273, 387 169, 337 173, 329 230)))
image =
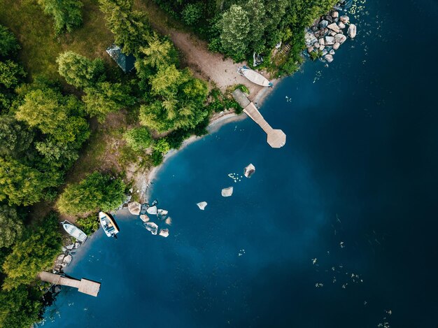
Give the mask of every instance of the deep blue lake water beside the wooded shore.
POLYGON ((169 238, 119 213, 67 271, 99 297, 64 289, 44 327, 437 327, 438 5, 356 4, 358 37, 263 104, 285 147, 244 120, 178 152, 169 238))

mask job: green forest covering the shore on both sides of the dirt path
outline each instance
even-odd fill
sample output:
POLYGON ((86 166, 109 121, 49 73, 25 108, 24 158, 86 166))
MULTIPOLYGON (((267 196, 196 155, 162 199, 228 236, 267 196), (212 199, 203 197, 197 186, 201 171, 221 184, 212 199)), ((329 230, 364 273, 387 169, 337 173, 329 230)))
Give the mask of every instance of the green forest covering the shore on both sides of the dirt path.
MULTIPOLYGON (((236 61, 251 63, 253 52, 269 58, 276 44, 292 45, 280 62, 264 61, 279 74, 298 68, 304 27, 334 4, 155 2, 209 41, 211 51, 236 61)), ((127 197, 122 159, 156 166, 184 138, 204 134, 212 112, 237 108, 181 64, 170 38, 153 29, 153 16, 136 10, 133 0, 37 0, 26 6, 0 6, 0 327, 29 327, 41 319, 45 286, 36 274, 50 269, 61 251, 59 215, 80 218, 87 233, 97 229, 94 214, 119 208, 127 197), (23 18, 15 14, 39 20, 40 33, 25 22, 19 28, 23 18), (121 73, 94 55, 87 39, 72 41, 86 35, 134 55, 134 71, 121 73), (42 59, 40 44, 53 60, 42 59), (108 132, 108 117, 119 114, 118 129, 108 132), (102 168, 87 159, 102 152, 106 134, 122 145, 119 166, 102 168)))

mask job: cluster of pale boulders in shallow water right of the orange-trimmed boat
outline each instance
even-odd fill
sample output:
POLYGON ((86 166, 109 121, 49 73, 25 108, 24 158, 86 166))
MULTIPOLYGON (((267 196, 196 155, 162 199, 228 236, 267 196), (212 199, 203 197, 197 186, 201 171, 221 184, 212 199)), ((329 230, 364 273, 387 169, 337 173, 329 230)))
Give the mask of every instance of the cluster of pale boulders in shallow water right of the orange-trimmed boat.
POLYGON ((154 215, 158 220, 164 221, 165 224, 171 225, 172 219, 167 216, 169 214, 168 211, 163 210, 162 208, 157 208, 158 201, 153 201, 152 204, 140 204, 136 201, 132 201, 128 204, 128 211, 132 215, 140 215, 140 220, 143 221, 143 226, 146 230, 150 231, 153 235, 160 235, 162 237, 169 236, 169 229, 160 229, 158 230, 158 225, 155 222, 150 222, 149 215, 154 215), (146 214, 147 213, 147 214, 146 214))

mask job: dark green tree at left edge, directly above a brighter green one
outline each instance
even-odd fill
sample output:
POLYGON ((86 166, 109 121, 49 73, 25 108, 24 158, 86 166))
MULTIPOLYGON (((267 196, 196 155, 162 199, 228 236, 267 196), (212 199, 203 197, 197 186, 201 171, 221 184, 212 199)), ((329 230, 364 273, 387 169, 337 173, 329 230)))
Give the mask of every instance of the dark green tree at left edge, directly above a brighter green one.
POLYGON ((34 133, 9 115, 0 115, 0 155, 17 155, 29 148, 34 133))

